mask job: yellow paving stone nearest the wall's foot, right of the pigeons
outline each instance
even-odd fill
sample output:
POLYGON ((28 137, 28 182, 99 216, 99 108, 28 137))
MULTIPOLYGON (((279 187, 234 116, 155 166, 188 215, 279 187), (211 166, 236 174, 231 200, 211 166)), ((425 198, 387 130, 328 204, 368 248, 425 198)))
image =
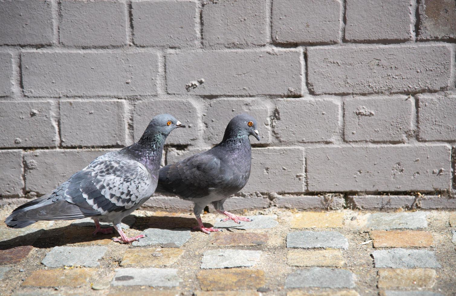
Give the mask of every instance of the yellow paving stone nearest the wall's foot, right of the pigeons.
POLYGON ((301 212, 293 214, 292 228, 342 227, 343 213, 301 212))

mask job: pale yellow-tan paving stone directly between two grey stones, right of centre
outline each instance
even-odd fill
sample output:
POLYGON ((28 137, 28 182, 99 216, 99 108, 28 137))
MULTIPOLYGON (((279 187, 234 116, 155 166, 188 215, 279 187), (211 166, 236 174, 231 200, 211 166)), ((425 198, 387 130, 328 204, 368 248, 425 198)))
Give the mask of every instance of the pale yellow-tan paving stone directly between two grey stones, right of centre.
POLYGON ((292 266, 329 266, 342 267, 345 263, 339 250, 289 250, 287 264, 292 266))

